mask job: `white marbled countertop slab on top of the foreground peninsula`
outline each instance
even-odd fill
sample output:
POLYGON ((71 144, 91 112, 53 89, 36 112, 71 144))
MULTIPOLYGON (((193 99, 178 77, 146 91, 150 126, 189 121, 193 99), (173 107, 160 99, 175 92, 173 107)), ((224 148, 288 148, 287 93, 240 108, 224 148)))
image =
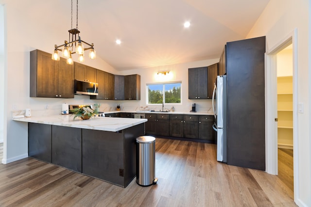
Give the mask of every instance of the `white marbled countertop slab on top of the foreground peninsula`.
POLYGON ((38 124, 86 128, 86 129, 95 129, 113 132, 133 127, 148 121, 148 119, 117 118, 117 117, 92 117, 88 120, 76 118, 75 120, 73 120, 73 116, 68 114, 13 118, 13 120, 19 122, 31 122, 38 124))

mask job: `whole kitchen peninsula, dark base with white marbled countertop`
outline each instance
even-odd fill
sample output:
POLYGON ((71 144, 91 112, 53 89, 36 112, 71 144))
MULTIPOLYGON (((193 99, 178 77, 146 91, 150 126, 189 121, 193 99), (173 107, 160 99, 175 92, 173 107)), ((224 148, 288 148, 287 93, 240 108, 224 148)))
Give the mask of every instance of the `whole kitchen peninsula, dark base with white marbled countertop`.
POLYGON ((126 187, 136 176, 136 138, 147 119, 70 115, 13 118, 28 123, 28 155, 126 187))

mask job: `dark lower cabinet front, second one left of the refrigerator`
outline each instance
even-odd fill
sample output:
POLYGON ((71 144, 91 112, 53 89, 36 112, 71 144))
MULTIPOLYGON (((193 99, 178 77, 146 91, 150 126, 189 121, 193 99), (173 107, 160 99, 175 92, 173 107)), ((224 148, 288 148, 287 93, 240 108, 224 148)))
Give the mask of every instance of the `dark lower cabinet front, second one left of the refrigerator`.
POLYGON ((197 139, 199 135, 199 118, 197 115, 184 115, 184 137, 197 139))

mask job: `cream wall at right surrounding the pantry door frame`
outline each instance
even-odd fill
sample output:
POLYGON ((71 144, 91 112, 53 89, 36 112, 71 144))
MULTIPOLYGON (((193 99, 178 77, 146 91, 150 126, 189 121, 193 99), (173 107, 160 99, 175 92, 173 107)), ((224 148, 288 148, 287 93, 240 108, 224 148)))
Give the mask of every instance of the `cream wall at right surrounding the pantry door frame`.
POLYGON ((311 56, 308 50, 311 47, 310 12, 309 0, 271 0, 247 35, 247 38, 265 35, 266 50, 269 51, 297 28, 298 102, 304 103, 304 113, 298 114, 296 164, 298 164, 299 195, 295 201, 300 206, 309 207, 311 207, 311 56))

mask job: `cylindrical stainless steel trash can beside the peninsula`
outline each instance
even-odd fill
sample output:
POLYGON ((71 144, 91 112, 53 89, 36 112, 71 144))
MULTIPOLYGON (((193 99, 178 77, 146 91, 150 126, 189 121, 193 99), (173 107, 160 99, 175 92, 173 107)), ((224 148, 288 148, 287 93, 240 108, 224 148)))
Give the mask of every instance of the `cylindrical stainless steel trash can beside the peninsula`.
POLYGON ((155 138, 140 136, 136 138, 136 182, 140 186, 150 186, 157 182, 155 178, 155 138))

